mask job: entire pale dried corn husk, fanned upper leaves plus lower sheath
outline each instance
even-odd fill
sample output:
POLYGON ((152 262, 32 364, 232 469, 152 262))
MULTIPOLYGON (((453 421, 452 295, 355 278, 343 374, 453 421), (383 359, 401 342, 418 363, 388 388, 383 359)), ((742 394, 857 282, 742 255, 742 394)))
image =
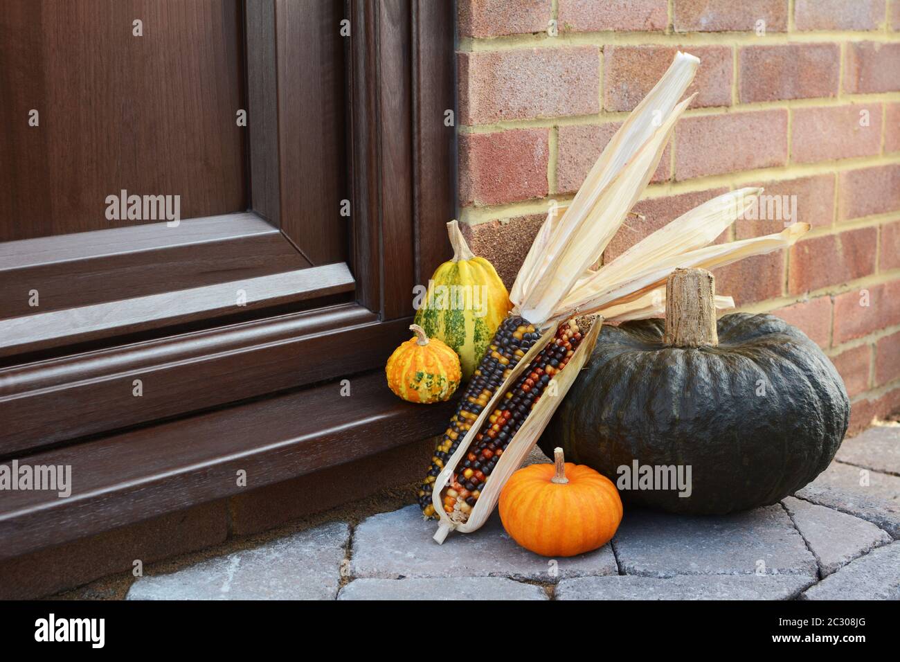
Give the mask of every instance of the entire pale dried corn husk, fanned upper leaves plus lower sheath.
MULTIPOLYGON (((467 521, 452 521, 441 500, 455 467, 500 397, 553 338, 559 323, 588 313, 599 313, 617 321, 663 313, 665 296, 658 290, 674 268, 722 266, 784 248, 808 230, 806 223, 795 223, 783 232, 766 237, 708 246, 761 193, 759 188, 746 188, 699 205, 609 265, 596 271, 590 269, 653 176, 675 122, 693 98, 679 103, 698 64, 694 56, 679 52, 660 82, 603 150, 572 203, 549 210, 510 292, 513 313, 535 324, 542 337, 484 407, 437 476, 432 500, 440 517, 435 535, 438 542, 443 542, 449 531, 476 531, 487 520, 503 485, 534 447, 579 370, 590 358, 602 316, 593 323, 569 364, 554 378, 557 396, 542 397, 509 442, 467 521)), ((731 297, 716 297, 717 308, 733 306, 731 297)))

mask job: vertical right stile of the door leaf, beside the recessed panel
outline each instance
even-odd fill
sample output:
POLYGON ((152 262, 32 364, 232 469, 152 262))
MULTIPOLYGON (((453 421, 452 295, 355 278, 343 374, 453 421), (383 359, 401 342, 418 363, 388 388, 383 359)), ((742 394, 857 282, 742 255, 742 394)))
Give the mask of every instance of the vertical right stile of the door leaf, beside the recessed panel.
POLYGON ((340 2, 247 0, 251 206, 317 266, 350 253, 344 17, 340 2))

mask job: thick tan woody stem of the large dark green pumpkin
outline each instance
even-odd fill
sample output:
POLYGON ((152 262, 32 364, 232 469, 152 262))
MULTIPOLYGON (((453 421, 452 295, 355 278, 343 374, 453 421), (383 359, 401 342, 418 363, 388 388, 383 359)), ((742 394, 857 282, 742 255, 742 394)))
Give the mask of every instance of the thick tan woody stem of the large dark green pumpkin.
POLYGON ((706 269, 675 269, 666 279, 666 330, 670 347, 716 347, 716 278, 706 269))

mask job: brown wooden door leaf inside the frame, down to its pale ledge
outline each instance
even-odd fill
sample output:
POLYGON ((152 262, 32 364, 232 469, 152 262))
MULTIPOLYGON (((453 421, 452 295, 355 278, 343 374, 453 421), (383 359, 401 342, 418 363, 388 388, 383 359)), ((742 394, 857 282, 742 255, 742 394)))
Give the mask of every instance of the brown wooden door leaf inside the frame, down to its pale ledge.
POLYGON ((311 0, 4 3, 0 357, 353 290, 343 14, 311 0), (238 284, 304 268, 320 269, 238 284), (179 297, 138 301, 223 283, 235 292, 167 314, 179 297), (131 304, 89 308, 110 302, 131 304))

